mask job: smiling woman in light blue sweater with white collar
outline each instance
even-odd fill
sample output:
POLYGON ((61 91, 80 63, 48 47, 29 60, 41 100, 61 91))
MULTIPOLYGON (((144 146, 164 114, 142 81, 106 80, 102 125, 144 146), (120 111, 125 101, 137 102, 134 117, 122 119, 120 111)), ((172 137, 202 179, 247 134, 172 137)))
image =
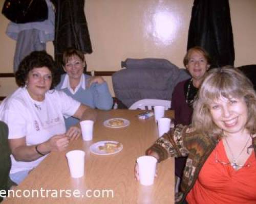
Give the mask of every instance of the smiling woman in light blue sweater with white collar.
MULTIPOLYGON (((68 48, 63 54, 63 69, 61 81, 56 89, 62 90, 69 96, 91 108, 110 110, 113 106, 113 98, 108 84, 102 77, 91 77, 84 74, 86 60, 84 55, 77 49, 68 48)), ((76 118, 65 119, 66 127, 79 122, 76 118)))

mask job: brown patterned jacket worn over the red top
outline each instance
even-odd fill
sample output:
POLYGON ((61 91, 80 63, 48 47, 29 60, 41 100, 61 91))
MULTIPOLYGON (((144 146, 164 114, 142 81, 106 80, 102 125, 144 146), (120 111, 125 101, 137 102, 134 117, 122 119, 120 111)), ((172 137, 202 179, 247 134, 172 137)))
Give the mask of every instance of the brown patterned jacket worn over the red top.
MULTIPOLYGON (((182 203, 187 193, 193 188, 203 164, 216 147, 219 139, 220 137, 217 135, 205 135, 196 132, 189 126, 178 125, 175 131, 164 134, 146 150, 146 155, 152 151, 157 152, 160 157, 159 162, 168 157, 188 156, 180 192, 175 195, 175 203, 182 203)), ((256 137, 253 138, 252 145, 255 153, 256 137)))

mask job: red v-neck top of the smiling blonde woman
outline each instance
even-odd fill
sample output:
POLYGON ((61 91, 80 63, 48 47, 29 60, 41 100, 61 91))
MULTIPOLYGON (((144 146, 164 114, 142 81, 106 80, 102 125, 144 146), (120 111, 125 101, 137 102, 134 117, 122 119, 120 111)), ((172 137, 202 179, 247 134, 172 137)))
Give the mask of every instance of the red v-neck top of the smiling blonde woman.
POLYGON ((228 158, 220 141, 204 163, 194 187, 187 194, 189 204, 210 203, 256 203, 256 159, 254 151, 245 165, 238 171, 228 163, 228 158), (249 165, 249 166, 247 166, 249 165))

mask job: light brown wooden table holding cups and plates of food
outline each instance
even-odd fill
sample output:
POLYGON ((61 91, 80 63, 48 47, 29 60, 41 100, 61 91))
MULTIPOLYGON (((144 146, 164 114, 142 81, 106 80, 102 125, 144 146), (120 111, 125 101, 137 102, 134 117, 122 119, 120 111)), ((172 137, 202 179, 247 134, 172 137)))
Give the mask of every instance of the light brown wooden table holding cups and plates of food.
MULTIPOLYGON (((174 159, 168 159, 158 164, 158 176, 152 186, 142 186, 134 178, 136 158, 145 154, 145 150, 154 143, 158 135, 154 117, 140 120, 137 118, 137 114, 140 112, 142 111, 99 111, 94 125, 93 141, 86 142, 79 138, 73 141, 67 150, 82 149, 86 152, 83 177, 73 179, 70 176, 65 157, 67 151, 52 152, 15 189, 16 191, 21 190, 17 191, 18 195, 25 194, 26 197, 9 197, 3 201, 3 204, 174 203, 174 159), (129 126, 119 129, 103 126, 104 120, 113 117, 126 118, 131 123, 129 126), (118 154, 109 156, 92 154, 89 149, 90 145, 101 140, 119 141, 123 144, 123 149, 118 154), (60 198, 61 189, 63 191, 60 198), (77 198, 71 195, 76 189, 84 194, 83 197, 77 198), (110 197, 107 197, 106 191, 103 192, 103 189, 113 190, 109 191, 110 197), (38 191, 39 197, 34 194, 35 197, 32 198, 32 190, 38 191), (64 190, 68 190, 67 193, 64 190), (93 193, 96 197, 93 197, 93 193), (102 198, 101 195, 104 197, 102 198)), ((172 111, 167 111, 166 114, 167 117, 174 115, 172 111)))

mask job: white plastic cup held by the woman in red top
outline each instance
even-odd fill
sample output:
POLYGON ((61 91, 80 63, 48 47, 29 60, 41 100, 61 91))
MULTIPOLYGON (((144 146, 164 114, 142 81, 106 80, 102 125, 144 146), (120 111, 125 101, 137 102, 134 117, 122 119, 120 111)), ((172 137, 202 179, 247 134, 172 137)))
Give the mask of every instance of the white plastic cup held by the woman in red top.
POLYGON ((154 184, 157 159, 152 156, 141 156, 137 159, 140 184, 151 186, 154 184))

